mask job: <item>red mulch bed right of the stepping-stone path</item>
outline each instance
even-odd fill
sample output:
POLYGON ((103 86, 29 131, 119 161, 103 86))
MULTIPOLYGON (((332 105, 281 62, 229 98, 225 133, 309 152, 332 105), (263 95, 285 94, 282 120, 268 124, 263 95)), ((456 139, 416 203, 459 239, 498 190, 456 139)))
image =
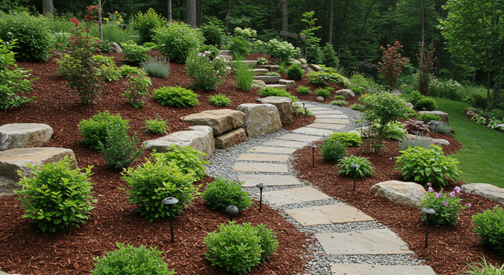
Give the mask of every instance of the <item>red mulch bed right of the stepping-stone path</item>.
MULTIPOLYGON (((448 140, 450 147, 443 146, 445 154, 452 154, 461 149, 460 144, 449 135, 437 138, 448 140)), ((318 144, 321 144, 319 142, 318 144)), ((463 204, 471 203, 472 207, 465 209, 459 216, 457 226, 439 226, 429 228, 429 245, 425 248, 425 223, 421 221, 420 211, 402 207, 388 199, 376 197, 369 192, 369 188, 379 182, 388 180, 404 181, 399 170, 393 170, 394 157, 398 153, 398 142, 388 141, 387 148, 379 155, 367 154, 361 147, 348 148, 349 155, 369 158, 373 164, 375 174, 372 177, 357 179, 356 191, 353 192, 353 178, 336 175, 335 163, 326 162, 319 149, 315 151, 315 167, 311 167, 311 149, 304 148, 294 153, 294 169, 299 171, 298 177, 310 181, 320 187, 326 194, 342 199, 346 203, 360 209, 396 232, 408 247, 416 253, 419 259, 425 259, 436 274, 459 274, 466 268, 466 262, 480 261, 484 255, 487 261, 502 264, 504 258, 483 248, 478 244, 479 237, 472 229, 474 227, 471 216, 491 209, 498 203, 473 194, 462 192, 463 204)), ((455 186, 465 184, 450 180, 450 186, 445 190, 453 190, 455 186)), ((436 189, 436 191, 439 191, 436 189)))

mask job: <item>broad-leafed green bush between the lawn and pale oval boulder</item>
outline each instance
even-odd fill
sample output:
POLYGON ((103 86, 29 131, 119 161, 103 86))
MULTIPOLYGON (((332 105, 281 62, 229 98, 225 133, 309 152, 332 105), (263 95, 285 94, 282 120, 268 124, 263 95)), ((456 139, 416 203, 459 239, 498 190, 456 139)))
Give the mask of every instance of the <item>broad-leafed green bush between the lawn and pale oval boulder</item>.
POLYGON ((401 170, 404 179, 413 179, 416 182, 433 182, 439 186, 447 186, 448 180, 445 176, 457 182, 462 171, 457 168, 457 159, 447 157, 443 154, 443 149, 431 145, 430 149, 421 147, 399 151, 402 155, 396 157, 396 167, 394 170, 401 170))

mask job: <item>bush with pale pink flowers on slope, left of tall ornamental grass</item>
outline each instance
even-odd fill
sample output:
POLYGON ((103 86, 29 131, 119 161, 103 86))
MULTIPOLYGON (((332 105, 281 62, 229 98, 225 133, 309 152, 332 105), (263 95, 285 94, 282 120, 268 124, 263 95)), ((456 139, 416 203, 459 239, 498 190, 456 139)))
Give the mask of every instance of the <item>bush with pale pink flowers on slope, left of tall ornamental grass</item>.
POLYGON ((194 89, 216 89, 224 83, 226 74, 231 70, 226 59, 216 56, 212 61, 210 54, 210 51, 200 52, 196 49, 187 56, 186 74, 193 78, 194 84, 191 87, 194 89))

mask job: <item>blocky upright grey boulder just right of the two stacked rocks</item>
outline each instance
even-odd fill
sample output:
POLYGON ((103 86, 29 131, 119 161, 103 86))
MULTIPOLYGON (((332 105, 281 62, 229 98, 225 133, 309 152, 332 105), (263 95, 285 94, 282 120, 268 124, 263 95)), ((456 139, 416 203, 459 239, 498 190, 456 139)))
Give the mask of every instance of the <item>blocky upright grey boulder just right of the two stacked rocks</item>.
POLYGON ((271 104, 241 104, 238 111, 246 115, 243 129, 247 136, 263 136, 282 128, 278 109, 271 104))

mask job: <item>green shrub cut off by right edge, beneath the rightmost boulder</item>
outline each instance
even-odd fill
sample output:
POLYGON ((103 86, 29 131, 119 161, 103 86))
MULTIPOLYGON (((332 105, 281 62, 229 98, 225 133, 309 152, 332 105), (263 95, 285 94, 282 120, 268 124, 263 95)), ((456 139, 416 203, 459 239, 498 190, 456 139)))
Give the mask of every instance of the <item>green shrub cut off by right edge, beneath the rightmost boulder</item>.
POLYGON ((481 237, 481 243, 491 247, 498 255, 504 255, 504 211, 495 205, 493 210, 472 216, 476 227, 474 232, 481 237))

